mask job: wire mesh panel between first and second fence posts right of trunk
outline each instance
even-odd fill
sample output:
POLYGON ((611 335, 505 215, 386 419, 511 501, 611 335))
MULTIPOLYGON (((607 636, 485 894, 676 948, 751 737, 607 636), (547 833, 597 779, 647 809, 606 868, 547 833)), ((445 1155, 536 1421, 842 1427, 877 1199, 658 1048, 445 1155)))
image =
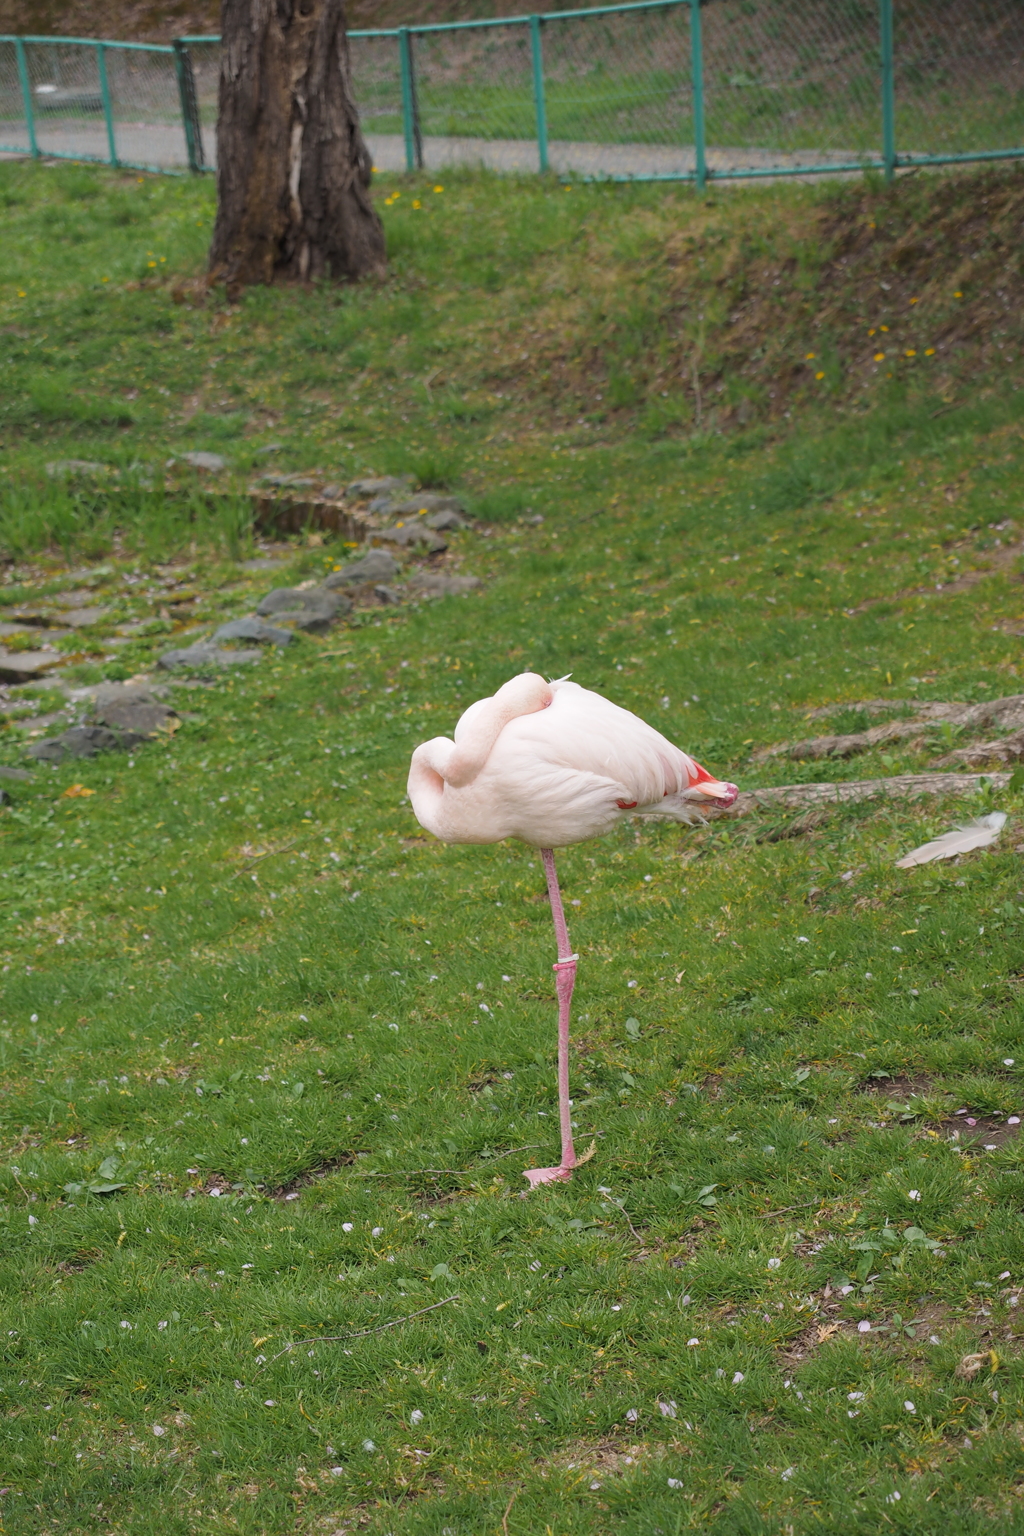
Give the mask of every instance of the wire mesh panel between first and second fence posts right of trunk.
POLYGON ((410 46, 424 166, 537 169, 527 23, 410 31, 410 46))

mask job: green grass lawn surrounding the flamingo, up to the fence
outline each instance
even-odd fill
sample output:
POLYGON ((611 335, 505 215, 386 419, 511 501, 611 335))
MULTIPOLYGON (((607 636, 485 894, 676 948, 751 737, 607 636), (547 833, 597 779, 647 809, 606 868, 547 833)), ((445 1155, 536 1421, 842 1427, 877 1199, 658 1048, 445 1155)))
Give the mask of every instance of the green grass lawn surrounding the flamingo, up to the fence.
POLYGON ((200 624, 270 584, 241 495, 164 484, 187 449, 226 492, 270 442, 448 484, 484 578, 0 780, 3 1528, 1024 1531, 1019 793, 562 852, 596 1154, 528 1198, 539 859, 405 803, 522 668, 743 788, 949 751, 755 760, 818 705, 1021 688, 1021 178, 434 186, 382 183, 381 287, 227 306, 209 183, 0 167, 0 601, 91 581, 152 621, 71 680, 152 664, 169 578, 200 624), (973 289, 967 237, 927 246, 958 218, 973 289), (993 848, 894 868, 995 808, 993 848))

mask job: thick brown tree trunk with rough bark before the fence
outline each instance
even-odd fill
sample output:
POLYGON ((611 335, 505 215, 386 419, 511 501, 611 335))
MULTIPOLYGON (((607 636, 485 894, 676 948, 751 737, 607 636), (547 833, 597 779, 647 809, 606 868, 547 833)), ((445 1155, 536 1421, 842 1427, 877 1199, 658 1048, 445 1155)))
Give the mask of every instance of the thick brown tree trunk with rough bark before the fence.
POLYGON ((229 292, 384 270, 342 0, 223 0, 216 166, 229 292))

